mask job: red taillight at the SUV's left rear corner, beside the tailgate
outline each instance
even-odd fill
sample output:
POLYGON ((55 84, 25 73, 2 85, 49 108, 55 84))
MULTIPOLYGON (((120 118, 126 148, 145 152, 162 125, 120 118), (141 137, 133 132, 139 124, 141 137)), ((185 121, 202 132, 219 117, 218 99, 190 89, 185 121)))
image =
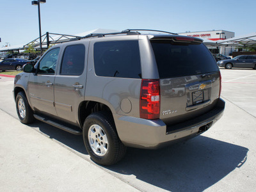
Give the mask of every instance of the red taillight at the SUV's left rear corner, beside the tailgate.
POLYGON ((159 79, 142 79, 140 91, 140 118, 156 119, 160 115, 159 79))

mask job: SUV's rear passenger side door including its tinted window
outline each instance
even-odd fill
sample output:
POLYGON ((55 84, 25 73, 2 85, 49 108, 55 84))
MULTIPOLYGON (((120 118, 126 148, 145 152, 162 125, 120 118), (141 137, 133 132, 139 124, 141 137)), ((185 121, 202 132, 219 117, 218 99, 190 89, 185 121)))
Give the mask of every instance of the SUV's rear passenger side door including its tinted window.
POLYGON ((78 124, 79 104, 84 99, 88 45, 73 44, 63 49, 60 70, 54 83, 56 112, 63 120, 78 124))

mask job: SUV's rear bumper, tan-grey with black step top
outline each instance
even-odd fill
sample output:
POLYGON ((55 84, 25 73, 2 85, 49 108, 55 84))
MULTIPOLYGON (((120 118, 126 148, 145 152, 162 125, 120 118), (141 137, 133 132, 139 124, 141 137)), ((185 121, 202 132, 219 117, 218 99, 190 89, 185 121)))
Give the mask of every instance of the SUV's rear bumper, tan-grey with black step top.
POLYGON ((220 99, 216 108, 204 115, 180 124, 166 126, 162 120, 145 120, 131 116, 114 116, 116 129, 124 145, 136 148, 160 148, 188 140, 207 131, 223 115, 225 102, 220 99))

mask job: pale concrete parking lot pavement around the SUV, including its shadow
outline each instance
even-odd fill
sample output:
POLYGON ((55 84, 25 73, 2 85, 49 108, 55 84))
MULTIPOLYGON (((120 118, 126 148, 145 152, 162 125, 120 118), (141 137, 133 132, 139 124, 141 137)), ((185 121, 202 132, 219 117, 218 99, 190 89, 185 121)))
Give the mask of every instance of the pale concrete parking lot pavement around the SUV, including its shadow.
POLYGON ((0 191, 255 191, 256 70, 221 69, 226 102, 204 134, 159 150, 128 148, 99 166, 81 136, 51 125, 24 125, 0 76, 0 191))

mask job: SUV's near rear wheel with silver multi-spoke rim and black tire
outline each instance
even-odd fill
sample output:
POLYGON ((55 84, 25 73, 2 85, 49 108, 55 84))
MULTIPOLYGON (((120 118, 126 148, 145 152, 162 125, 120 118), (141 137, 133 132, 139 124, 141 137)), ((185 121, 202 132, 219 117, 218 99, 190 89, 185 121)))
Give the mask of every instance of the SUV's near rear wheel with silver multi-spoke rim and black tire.
POLYGON ((115 164, 122 159, 126 147, 118 138, 113 118, 108 113, 89 115, 83 125, 84 145, 95 163, 115 164))

